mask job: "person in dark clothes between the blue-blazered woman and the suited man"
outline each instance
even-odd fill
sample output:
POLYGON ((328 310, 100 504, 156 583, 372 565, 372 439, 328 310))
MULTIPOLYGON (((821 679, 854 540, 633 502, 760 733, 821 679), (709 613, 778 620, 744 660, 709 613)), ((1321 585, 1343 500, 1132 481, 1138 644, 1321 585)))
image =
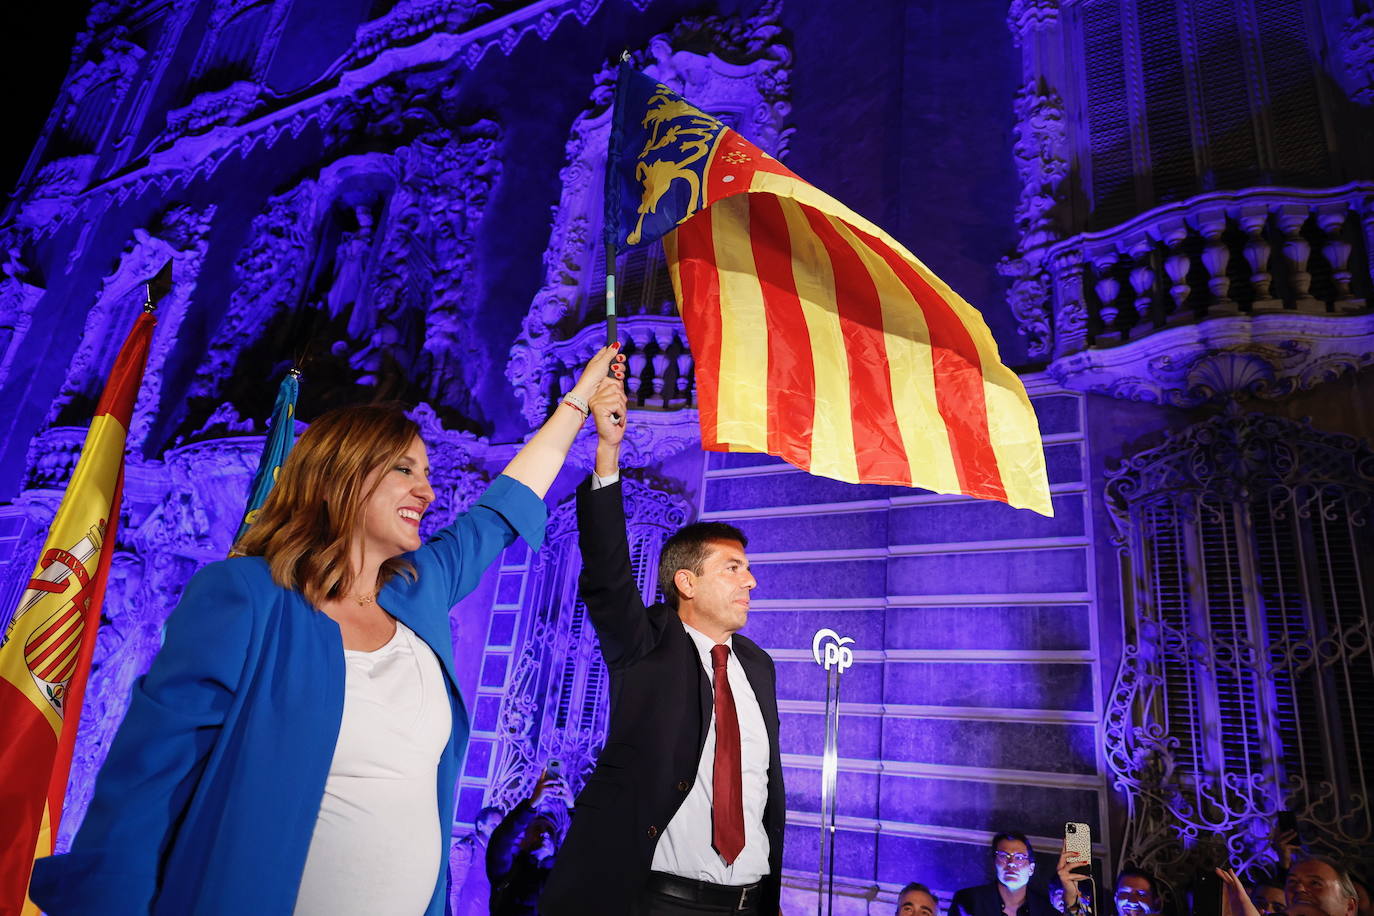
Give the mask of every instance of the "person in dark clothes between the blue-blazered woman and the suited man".
POLYGON ((486 847, 492 916, 533 916, 558 846, 567 832, 572 794, 558 776, 544 772, 530 797, 511 809, 486 847))

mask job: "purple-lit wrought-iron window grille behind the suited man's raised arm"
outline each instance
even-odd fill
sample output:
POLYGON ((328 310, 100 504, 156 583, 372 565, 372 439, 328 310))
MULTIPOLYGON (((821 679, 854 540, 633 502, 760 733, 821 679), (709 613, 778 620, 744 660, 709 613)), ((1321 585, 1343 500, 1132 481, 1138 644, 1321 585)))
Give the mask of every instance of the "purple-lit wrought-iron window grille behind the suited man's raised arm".
MULTIPOLYGON (((646 603, 658 591, 658 553, 688 518, 687 500, 622 478, 631 562, 646 603)), ((548 540, 534 564, 526 607, 532 619, 502 700, 496 768, 484 805, 510 810, 526 798, 550 758, 563 761, 570 788, 580 791, 606 740, 609 681, 596 632, 577 597, 581 555, 574 501, 550 519, 548 540)))

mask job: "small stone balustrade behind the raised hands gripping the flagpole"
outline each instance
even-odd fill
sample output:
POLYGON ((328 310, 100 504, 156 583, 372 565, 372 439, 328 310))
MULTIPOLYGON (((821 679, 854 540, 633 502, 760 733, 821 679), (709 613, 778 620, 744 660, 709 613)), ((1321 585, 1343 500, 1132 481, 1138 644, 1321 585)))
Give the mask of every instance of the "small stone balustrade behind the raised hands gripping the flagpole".
MULTIPOLYGON (((618 330, 629 405, 660 411, 695 407, 695 367, 682 320, 666 314, 631 314, 620 319, 618 330)), ((552 394, 562 397, 572 390, 583 365, 605 342, 606 327, 596 323, 556 345, 552 349, 552 394)))

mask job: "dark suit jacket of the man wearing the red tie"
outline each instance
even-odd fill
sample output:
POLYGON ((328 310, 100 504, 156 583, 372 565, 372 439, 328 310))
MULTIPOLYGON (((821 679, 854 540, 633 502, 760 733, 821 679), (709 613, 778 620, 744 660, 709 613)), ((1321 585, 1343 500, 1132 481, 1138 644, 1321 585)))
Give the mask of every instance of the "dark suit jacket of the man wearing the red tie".
MULTIPOLYGON (((643 890, 658 836, 697 780, 713 700, 710 678, 677 612, 662 603, 646 608, 640 599, 620 483, 592 490, 588 481, 578 488, 577 527, 581 596, 610 672, 610 725, 596 769, 577 797, 540 912, 622 916, 643 890)), ((768 729, 769 873, 758 912, 776 913, 786 814, 776 677, 768 654, 738 633, 734 652, 768 729)))

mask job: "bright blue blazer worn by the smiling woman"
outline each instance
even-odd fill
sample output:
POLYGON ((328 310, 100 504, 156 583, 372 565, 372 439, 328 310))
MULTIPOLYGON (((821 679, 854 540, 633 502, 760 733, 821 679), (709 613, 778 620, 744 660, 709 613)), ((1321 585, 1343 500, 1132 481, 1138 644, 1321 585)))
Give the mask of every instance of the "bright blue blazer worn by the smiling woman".
MULTIPOLYGON (((453 729, 438 762, 440 824, 452 821, 469 731, 449 608, 517 536, 537 548, 545 518, 529 488, 499 477, 409 555, 415 581, 393 577, 378 595, 448 678, 453 729)), ((276 585, 262 558, 206 566, 135 683, 71 851, 34 864, 30 898, 52 916, 290 913, 342 714, 338 623, 276 585)), ((440 869, 429 916, 444 913, 445 886, 440 869)))

